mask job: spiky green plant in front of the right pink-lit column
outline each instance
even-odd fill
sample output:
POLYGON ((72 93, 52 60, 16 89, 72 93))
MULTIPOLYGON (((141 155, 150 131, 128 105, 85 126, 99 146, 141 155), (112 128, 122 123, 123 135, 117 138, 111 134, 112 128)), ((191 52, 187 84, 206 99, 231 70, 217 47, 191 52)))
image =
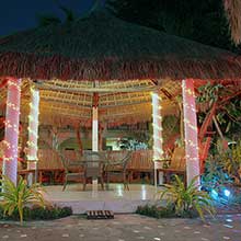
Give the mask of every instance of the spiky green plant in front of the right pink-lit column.
POLYGON ((190 185, 185 187, 185 184, 181 179, 175 175, 175 181, 173 184, 167 184, 161 193, 160 198, 168 200, 168 206, 174 208, 174 213, 177 216, 185 216, 188 213, 197 211, 202 220, 204 220, 205 211, 211 216, 215 214, 215 208, 213 206, 211 198, 209 195, 203 191, 198 191, 195 185, 196 177, 192 180, 190 185))

